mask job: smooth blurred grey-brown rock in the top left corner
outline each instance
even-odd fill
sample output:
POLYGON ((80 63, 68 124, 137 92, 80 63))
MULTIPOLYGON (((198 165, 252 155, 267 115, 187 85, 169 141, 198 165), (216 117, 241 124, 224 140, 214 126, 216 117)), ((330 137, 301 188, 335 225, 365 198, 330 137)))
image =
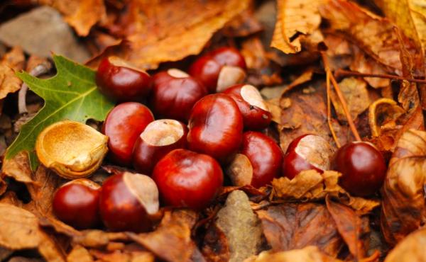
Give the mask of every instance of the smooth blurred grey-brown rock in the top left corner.
POLYGON ((28 54, 42 57, 50 57, 51 52, 77 62, 90 57, 60 13, 49 6, 34 8, 1 24, 0 41, 9 46, 19 45, 28 54))

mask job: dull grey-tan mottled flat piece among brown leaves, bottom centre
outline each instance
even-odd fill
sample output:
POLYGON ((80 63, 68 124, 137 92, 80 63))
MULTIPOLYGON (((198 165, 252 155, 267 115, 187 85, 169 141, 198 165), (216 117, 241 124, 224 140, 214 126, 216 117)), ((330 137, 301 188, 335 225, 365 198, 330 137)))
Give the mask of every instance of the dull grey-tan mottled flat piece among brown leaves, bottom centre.
POLYGON ((229 261, 244 261, 258 253, 262 243, 261 223, 251 210, 246 193, 241 190, 231 192, 225 206, 217 213, 216 223, 228 239, 229 261))

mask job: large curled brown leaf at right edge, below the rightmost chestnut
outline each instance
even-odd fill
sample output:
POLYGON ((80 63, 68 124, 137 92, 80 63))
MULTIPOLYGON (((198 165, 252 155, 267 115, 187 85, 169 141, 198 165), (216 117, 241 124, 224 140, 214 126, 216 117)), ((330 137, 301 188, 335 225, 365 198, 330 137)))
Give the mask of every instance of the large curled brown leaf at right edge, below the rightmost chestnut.
POLYGON ((408 130, 398 140, 383 185, 381 228, 395 245, 426 221, 426 132, 408 130))

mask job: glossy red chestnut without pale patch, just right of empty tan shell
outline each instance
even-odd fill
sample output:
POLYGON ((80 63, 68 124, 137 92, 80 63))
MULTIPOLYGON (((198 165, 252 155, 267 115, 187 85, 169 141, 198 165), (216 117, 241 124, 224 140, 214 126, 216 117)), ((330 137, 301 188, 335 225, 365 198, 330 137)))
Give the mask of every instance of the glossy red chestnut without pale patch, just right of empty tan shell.
POLYGON ((121 166, 130 166, 136 139, 153 120, 151 110, 141 103, 121 103, 113 108, 102 127, 104 135, 109 137, 109 158, 121 166))

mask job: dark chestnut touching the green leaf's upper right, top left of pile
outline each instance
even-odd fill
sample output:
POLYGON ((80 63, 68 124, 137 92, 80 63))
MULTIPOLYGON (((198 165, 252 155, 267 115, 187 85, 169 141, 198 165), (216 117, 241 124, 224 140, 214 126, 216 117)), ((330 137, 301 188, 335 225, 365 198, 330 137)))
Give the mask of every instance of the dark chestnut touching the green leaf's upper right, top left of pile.
POLYGON ((141 101, 151 90, 151 76, 119 57, 105 57, 97 69, 96 84, 113 101, 141 101))

